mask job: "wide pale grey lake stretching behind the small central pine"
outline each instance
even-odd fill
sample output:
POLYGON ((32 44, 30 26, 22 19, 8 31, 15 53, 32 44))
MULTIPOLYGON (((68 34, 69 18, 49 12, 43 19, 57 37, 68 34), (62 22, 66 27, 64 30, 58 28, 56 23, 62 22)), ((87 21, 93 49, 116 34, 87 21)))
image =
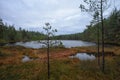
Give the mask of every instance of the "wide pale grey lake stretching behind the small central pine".
MULTIPOLYGON (((80 47, 80 46, 94 46, 96 45, 95 43, 92 42, 86 42, 86 41, 81 41, 81 40, 60 40, 63 45, 66 48, 71 48, 71 47, 80 47)), ((30 42, 16 42, 14 44, 7 44, 8 46, 24 46, 27 48, 42 48, 45 46, 44 44, 40 43, 39 41, 30 41, 30 42)))

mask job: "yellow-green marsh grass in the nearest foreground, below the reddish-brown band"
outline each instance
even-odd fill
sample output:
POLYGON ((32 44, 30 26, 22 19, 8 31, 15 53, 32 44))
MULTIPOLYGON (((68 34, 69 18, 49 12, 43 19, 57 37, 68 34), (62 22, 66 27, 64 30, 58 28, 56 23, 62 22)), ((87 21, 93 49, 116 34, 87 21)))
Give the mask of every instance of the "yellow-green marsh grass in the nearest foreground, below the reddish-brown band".
MULTIPOLYGON (((96 60, 50 60, 50 80, 119 80, 120 57, 106 59, 105 72, 101 72, 96 60)), ((0 67, 0 80, 48 80, 47 62, 31 61, 0 67)))

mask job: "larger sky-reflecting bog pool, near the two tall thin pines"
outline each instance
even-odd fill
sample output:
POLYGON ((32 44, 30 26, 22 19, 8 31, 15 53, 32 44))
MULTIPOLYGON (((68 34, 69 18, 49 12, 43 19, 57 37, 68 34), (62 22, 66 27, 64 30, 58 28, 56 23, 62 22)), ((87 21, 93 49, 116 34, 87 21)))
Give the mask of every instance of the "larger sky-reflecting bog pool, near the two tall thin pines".
POLYGON ((70 56, 70 58, 78 58, 80 60, 94 60, 96 57, 89 53, 77 53, 76 55, 70 56))

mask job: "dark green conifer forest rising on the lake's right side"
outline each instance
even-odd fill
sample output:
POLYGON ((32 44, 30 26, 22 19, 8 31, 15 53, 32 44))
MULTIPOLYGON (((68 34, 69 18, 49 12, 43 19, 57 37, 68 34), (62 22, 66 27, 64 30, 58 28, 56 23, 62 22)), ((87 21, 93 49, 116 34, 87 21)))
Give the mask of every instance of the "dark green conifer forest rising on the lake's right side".
MULTIPOLYGON (((86 26, 82 33, 70 34, 70 35, 59 35, 56 39, 63 40, 85 40, 97 42, 97 34, 99 29, 99 39, 101 41, 101 22, 94 23, 86 26)), ((108 18, 104 19, 104 41, 110 44, 120 44, 120 10, 113 10, 108 18)))

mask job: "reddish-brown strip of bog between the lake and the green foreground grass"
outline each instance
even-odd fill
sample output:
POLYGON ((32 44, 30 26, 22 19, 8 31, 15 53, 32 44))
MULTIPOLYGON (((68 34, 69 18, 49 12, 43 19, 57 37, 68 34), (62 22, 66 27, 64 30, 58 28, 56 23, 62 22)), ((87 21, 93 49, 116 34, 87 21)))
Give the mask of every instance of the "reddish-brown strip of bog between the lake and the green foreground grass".
MULTIPOLYGON (((100 49, 101 52, 101 49, 100 49)), ((50 48, 50 59, 68 58, 76 53, 95 53, 97 54, 96 46, 74 47, 74 48, 50 48)), ((105 53, 113 53, 120 55, 120 47, 105 47, 105 53)), ((33 59, 47 59, 45 48, 32 49, 21 46, 3 46, 0 47, 0 64, 20 63, 24 55, 33 59), (2 56, 1 56, 2 55, 2 56), (7 63, 6 63, 7 62, 7 63)))

